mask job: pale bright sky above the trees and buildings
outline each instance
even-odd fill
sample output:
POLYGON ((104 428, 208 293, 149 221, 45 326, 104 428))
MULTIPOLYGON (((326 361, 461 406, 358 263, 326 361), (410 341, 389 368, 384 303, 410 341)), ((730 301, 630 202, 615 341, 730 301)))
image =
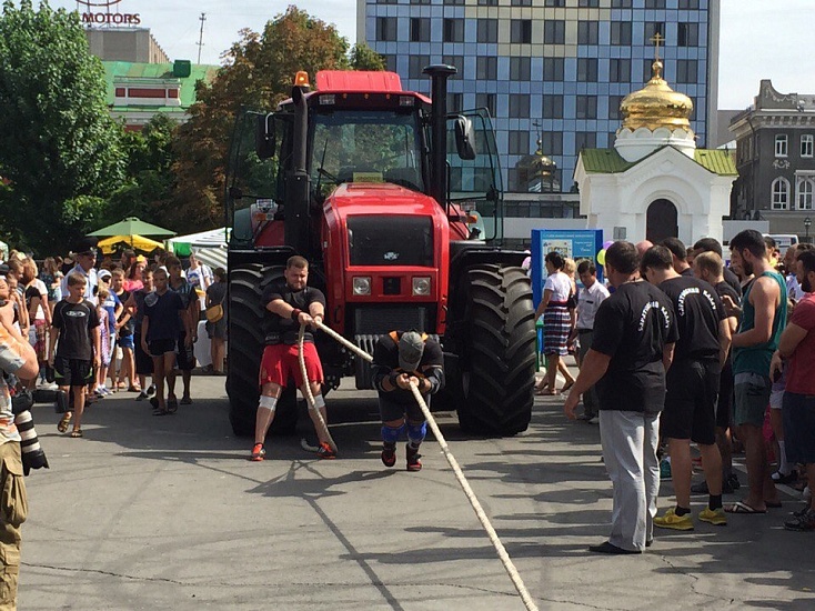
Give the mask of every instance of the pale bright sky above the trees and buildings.
MULTIPOLYGON (((199 50, 199 17, 205 12, 201 61, 220 63, 220 54, 238 40, 239 30, 260 31, 290 3, 293 0, 120 0, 114 10, 139 13, 142 26, 152 30, 170 59, 193 61, 199 50)), ((74 9, 78 3, 51 0, 50 6, 74 9)), ((356 40, 356 0, 300 6, 334 23, 350 42, 356 40)), ((721 0, 721 109, 746 108, 758 92, 761 79, 767 78, 783 93, 815 93, 815 52, 806 50, 815 22, 815 0, 721 0)))

